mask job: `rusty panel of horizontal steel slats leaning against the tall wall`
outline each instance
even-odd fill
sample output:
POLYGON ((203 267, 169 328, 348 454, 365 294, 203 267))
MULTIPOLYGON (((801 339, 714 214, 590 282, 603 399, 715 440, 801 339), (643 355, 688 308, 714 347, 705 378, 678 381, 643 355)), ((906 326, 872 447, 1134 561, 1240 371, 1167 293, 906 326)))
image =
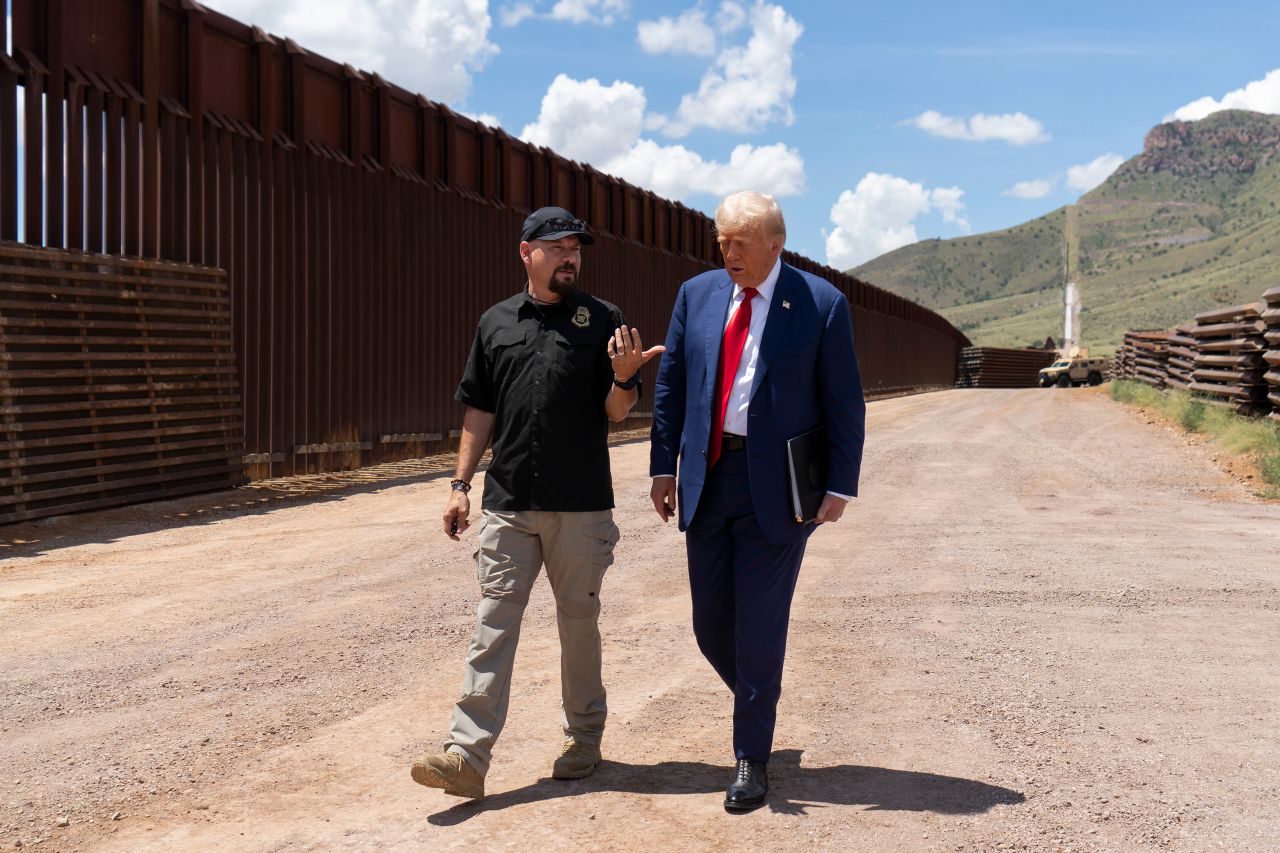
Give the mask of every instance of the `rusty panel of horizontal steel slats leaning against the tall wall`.
POLYGON ((243 480, 216 269, 0 242, 0 524, 243 480))

